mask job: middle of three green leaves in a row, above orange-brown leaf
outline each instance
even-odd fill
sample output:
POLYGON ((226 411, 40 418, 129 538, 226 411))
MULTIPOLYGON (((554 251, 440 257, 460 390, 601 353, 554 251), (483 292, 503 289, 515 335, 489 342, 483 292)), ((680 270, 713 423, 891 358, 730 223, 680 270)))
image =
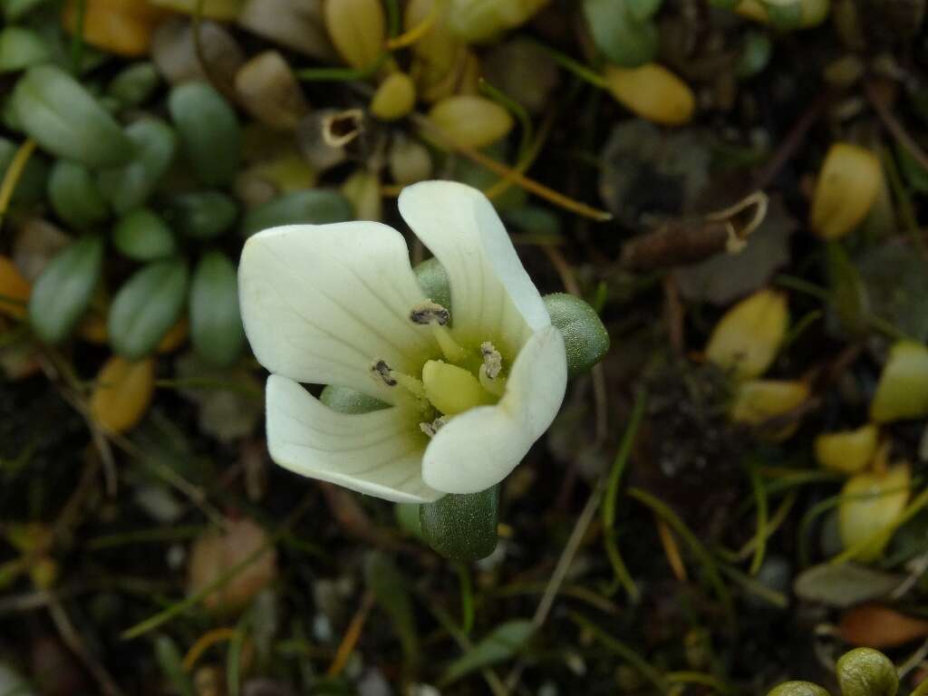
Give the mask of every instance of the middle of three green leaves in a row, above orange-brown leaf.
POLYGON ((151 353, 184 309, 187 263, 173 258, 137 271, 116 293, 108 329, 116 353, 137 360, 151 353))

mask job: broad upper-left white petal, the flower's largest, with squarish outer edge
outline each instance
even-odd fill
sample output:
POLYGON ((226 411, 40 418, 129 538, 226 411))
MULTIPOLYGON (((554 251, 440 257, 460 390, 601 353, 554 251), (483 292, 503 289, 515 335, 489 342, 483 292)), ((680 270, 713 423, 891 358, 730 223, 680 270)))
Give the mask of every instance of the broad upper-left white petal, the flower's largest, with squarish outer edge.
POLYGON ((408 318, 425 298, 406 240, 379 223, 264 230, 245 243, 238 295, 258 361, 292 380, 393 403, 372 362, 418 370, 433 351, 430 331, 408 318))

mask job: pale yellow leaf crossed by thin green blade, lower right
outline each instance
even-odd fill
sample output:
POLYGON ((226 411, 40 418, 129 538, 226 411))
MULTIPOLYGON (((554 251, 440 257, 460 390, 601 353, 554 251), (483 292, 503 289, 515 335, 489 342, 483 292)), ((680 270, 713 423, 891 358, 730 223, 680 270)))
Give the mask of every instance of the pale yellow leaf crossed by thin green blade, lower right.
POLYGON ((895 531, 891 528, 905 509, 911 490, 909 465, 859 473, 844 483, 838 506, 838 531, 844 548, 865 543, 857 561, 876 561, 895 531))

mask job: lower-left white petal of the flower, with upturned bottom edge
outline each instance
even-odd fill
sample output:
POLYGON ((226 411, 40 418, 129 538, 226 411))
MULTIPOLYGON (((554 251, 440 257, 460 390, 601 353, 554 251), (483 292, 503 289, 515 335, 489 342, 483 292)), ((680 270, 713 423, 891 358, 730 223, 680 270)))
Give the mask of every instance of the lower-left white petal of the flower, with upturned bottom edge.
POLYGON ((415 414, 399 408, 348 415, 333 411, 293 380, 267 380, 267 448, 280 466, 398 503, 443 494, 422 481, 428 438, 415 414))

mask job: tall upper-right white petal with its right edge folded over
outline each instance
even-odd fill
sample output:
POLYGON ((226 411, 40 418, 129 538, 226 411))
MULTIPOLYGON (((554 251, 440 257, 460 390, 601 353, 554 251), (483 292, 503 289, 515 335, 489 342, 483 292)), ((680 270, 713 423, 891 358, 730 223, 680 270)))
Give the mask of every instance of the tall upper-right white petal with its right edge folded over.
POLYGON ((476 188, 425 181, 399 198, 406 224, 438 258, 451 281, 456 335, 468 342, 496 336, 513 355, 532 331, 551 323, 545 303, 500 221, 476 188))

